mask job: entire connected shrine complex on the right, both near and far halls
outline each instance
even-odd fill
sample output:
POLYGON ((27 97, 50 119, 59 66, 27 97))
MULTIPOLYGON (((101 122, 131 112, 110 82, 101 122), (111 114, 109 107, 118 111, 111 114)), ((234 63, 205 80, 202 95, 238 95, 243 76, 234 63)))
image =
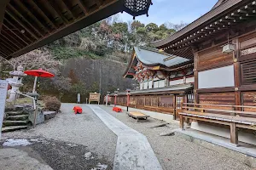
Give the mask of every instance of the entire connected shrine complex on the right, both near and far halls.
MULTIPOLYGON (((187 122, 233 144, 256 144, 255 27, 256 1, 219 0, 189 26, 151 42, 154 48, 134 48, 125 77, 137 79, 140 90, 129 105, 175 112, 181 128, 187 122)), ((125 94, 115 96, 125 105, 125 94)))

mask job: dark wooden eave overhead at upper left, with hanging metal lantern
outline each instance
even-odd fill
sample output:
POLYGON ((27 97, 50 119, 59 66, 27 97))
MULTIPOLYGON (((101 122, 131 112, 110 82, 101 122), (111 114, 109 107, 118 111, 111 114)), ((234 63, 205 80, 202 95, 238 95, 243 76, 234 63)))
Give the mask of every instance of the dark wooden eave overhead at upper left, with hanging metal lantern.
POLYGON ((1 0, 0 56, 18 57, 113 14, 148 15, 151 0, 1 0))

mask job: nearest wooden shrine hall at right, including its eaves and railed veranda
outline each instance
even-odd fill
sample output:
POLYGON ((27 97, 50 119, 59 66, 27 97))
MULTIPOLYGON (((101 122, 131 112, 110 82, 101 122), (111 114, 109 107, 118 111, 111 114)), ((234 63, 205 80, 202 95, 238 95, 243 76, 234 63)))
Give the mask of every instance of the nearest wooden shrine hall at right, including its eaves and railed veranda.
POLYGON ((194 61, 195 103, 183 103, 180 126, 238 144, 256 144, 256 2, 219 0, 207 14, 155 48, 194 61))

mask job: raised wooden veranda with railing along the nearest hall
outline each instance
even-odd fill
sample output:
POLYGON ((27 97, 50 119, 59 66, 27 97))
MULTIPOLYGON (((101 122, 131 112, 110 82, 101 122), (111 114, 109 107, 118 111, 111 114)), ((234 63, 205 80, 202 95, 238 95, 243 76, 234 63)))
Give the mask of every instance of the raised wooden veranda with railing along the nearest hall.
POLYGON ((183 104, 183 111, 179 112, 180 127, 184 128, 184 119, 191 119, 201 122, 212 122, 230 126, 230 142, 238 144, 238 128, 247 128, 256 130, 256 112, 235 111, 243 110, 241 108, 255 108, 255 106, 243 105, 201 105, 201 104, 183 104), (188 106, 193 105, 193 106, 188 106), (207 107, 207 108, 206 108, 207 107), (230 109, 212 109, 230 108, 230 109))

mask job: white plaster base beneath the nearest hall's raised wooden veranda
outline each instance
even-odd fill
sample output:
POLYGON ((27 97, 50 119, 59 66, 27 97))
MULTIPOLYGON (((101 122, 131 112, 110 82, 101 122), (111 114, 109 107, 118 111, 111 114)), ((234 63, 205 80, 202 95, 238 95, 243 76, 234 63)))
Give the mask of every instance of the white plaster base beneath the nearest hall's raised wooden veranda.
MULTIPOLYGON (((215 127, 203 122, 192 122, 191 128, 230 139, 230 129, 228 128, 215 127)), ((256 144, 256 136, 253 133, 238 132, 238 140, 247 144, 256 144)))

